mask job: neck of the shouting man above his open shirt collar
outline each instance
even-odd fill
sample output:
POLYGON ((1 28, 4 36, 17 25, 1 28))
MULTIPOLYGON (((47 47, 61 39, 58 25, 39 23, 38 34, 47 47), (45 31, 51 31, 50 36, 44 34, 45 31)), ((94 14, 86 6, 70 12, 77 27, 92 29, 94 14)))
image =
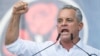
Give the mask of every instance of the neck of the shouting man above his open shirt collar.
MULTIPOLYGON (((80 40, 80 38, 74 38, 73 39, 73 43, 77 43, 80 40)), ((69 51, 74 44, 72 43, 72 41, 60 41, 60 44, 63 46, 63 48, 65 48, 67 51, 69 51)))

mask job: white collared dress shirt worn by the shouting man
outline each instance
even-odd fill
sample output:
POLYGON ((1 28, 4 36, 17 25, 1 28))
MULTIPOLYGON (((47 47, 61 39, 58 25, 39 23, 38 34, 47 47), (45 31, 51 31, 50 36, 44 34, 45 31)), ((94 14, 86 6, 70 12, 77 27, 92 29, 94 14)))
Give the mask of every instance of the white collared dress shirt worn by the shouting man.
MULTIPOLYGON (((35 43, 32 41, 18 39, 14 43, 6 46, 7 49, 16 54, 17 56, 33 56, 38 51, 44 49, 45 47, 53 44, 52 41, 47 41, 44 43, 35 43)), ((84 49, 89 54, 96 54, 100 56, 100 51, 82 43, 80 40, 77 45, 84 49)), ((48 49, 38 53, 35 56, 88 56, 84 51, 76 46, 73 46, 69 51, 63 48, 60 44, 55 44, 48 49)))

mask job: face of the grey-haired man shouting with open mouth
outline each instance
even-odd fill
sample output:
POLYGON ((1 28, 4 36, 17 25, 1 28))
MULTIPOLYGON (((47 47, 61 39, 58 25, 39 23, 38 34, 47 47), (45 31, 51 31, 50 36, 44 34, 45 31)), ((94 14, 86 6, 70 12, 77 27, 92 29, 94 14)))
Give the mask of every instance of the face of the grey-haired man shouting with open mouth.
POLYGON ((82 29, 83 23, 79 22, 76 17, 76 11, 73 9, 63 9, 58 14, 57 28, 58 33, 61 32, 61 39, 69 40, 71 33, 73 37, 79 37, 79 31, 82 29))

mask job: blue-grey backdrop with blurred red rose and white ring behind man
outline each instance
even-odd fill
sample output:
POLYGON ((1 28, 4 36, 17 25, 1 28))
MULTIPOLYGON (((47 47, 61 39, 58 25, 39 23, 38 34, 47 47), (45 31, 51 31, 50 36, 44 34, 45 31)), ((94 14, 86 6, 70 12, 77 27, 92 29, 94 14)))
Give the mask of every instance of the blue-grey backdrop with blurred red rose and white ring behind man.
MULTIPOLYGON (((0 21, 7 16, 7 12, 17 1, 0 1, 0 21)), ((100 0, 66 0, 67 2, 64 2, 65 0, 27 1, 29 3, 29 11, 21 16, 20 38, 36 42, 55 41, 57 37, 56 19, 58 11, 62 6, 71 3, 78 5, 84 14, 84 28, 80 34, 83 42, 100 49, 100 0)), ((0 48, 2 47, 0 46, 0 48)), ((3 52, 5 55, 12 55, 6 50, 5 46, 3 47, 3 52)))

